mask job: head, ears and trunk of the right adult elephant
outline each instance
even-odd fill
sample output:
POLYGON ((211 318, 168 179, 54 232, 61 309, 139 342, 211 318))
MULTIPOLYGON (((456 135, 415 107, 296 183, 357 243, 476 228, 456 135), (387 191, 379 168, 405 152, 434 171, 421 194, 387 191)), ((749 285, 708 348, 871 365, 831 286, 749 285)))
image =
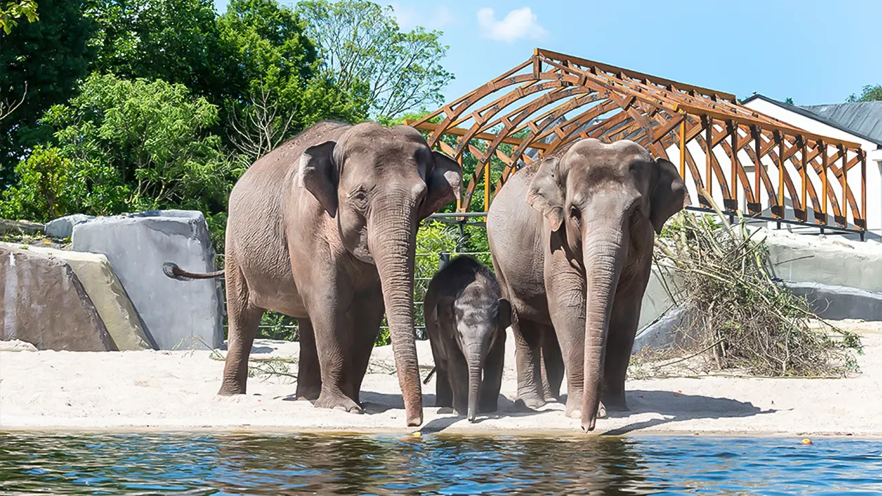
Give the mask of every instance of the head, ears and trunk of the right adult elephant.
POLYGON ((585 356, 581 424, 594 429, 609 319, 623 271, 651 256, 654 233, 684 207, 672 163, 629 140, 584 139, 544 160, 527 202, 545 217, 561 249, 585 273, 585 356))

